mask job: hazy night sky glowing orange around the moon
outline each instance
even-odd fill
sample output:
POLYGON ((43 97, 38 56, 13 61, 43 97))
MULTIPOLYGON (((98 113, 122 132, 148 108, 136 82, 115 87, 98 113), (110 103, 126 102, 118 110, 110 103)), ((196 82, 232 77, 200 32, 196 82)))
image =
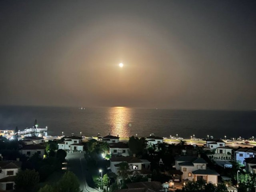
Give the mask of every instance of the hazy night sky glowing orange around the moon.
POLYGON ((256 1, 2 0, 0 105, 255 109, 256 1))

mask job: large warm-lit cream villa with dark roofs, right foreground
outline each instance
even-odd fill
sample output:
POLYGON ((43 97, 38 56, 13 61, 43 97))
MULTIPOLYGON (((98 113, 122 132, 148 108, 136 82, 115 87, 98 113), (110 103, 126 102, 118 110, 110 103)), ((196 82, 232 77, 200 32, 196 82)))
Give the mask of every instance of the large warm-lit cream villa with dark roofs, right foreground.
POLYGON ((207 162, 198 157, 181 156, 175 160, 176 170, 180 170, 181 180, 206 180, 206 182, 212 182, 213 184, 218 183, 219 174, 210 169, 206 169, 207 162))

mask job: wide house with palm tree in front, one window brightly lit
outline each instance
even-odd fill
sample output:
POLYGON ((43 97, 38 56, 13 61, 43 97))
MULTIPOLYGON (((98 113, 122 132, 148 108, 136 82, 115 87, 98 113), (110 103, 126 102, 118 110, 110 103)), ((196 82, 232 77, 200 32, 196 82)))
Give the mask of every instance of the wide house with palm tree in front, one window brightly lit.
POLYGON ((138 175, 138 174, 142 176, 147 176, 148 174, 151 174, 151 171, 148 167, 148 162, 146 162, 145 160, 140 160, 136 157, 130 156, 130 157, 110 158, 110 169, 116 175, 118 175, 118 169, 119 169, 120 163, 122 162, 127 162, 129 165, 129 169, 128 169, 129 177, 133 175, 138 175), (143 166, 144 163, 145 163, 145 166, 143 166))

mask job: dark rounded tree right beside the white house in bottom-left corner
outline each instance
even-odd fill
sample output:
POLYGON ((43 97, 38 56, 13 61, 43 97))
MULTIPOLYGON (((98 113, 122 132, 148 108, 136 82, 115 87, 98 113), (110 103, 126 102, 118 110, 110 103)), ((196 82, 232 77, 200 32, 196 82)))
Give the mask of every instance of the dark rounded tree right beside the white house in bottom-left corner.
POLYGON ((39 182, 39 174, 35 170, 20 170, 15 177, 15 189, 27 191, 39 182))

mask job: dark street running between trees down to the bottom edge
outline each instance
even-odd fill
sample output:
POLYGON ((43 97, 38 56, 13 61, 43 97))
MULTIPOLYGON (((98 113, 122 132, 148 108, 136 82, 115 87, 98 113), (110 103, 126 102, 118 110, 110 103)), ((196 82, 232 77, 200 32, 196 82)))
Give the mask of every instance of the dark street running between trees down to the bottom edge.
POLYGON ((68 153, 66 156, 68 160, 68 170, 72 171, 80 182, 80 189, 83 192, 99 192, 98 190, 88 186, 86 182, 86 174, 89 174, 86 170, 86 160, 84 159, 84 153, 68 153))

